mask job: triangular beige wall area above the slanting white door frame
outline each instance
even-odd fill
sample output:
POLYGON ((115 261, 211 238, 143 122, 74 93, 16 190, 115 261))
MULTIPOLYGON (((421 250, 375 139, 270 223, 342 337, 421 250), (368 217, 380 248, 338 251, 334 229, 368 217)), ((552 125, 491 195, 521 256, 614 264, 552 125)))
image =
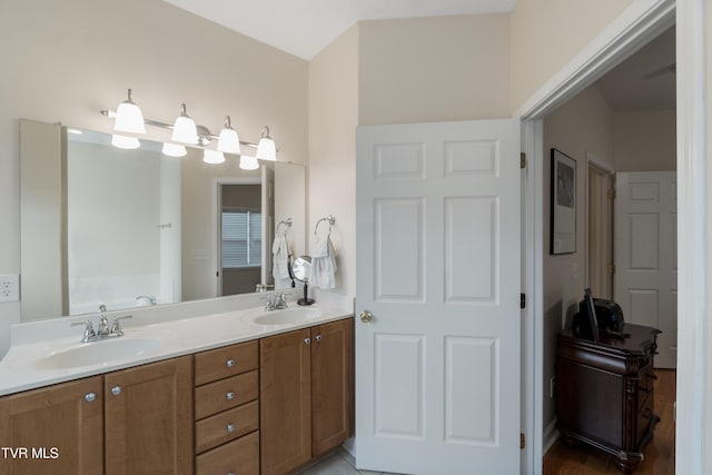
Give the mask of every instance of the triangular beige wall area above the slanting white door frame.
POLYGON ((521 107, 634 0, 517 0, 511 13, 512 110, 521 107))

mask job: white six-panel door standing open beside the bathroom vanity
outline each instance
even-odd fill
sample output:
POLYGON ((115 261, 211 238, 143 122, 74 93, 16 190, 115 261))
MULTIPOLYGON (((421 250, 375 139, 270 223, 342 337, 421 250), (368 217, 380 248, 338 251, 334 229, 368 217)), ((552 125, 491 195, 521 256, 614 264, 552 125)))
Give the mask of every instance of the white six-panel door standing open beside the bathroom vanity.
POLYGON ((518 473, 518 120, 360 127, 356 168, 357 466, 518 473))

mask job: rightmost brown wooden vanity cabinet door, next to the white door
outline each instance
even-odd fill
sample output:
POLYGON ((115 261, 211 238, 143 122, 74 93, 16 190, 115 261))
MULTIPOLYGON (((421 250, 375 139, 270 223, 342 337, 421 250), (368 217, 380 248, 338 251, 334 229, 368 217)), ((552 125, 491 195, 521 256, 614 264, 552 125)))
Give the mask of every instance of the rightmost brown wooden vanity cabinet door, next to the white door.
POLYGON ((312 328, 312 453, 339 446, 354 427, 354 320, 312 328))

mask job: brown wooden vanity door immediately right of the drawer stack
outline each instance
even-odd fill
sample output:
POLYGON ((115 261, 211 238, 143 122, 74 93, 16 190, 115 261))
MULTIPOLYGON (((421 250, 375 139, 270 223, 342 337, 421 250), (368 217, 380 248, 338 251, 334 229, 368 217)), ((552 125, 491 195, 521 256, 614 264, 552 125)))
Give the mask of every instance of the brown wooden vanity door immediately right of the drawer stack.
POLYGON ((281 475, 312 458, 308 328, 259 342, 261 475, 281 475))

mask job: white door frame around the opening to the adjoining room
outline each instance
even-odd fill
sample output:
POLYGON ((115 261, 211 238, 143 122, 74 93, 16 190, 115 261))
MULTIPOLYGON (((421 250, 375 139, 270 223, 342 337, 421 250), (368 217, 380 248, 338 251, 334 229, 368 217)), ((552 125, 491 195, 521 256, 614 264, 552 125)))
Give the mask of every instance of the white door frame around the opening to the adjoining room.
MULTIPOLYGON (((709 1, 706 2, 709 4, 709 1)), ((676 23, 678 77, 678 182, 679 228, 678 303, 680 348, 678 360, 676 471, 704 473, 712 465, 704 455, 706 385, 712 373, 705 352, 708 287, 705 253, 705 0, 635 0, 558 73, 534 93, 513 117, 522 120, 522 150, 528 167, 525 176, 527 206, 523 238, 523 279, 527 311, 523 323, 522 419, 526 448, 523 473, 542 473, 543 433, 543 117, 612 69, 642 44, 676 23), (533 315, 532 315, 533 314, 533 315), (531 317, 531 318, 530 318, 531 317)), ((706 85, 709 87, 709 83, 706 85)), ((709 102, 709 100, 708 100, 709 102)), ((708 112, 706 119, 710 116, 708 112)), ((712 210, 710 210, 712 212, 712 210)), ((712 274, 712 271, 710 271, 712 274)), ((712 418, 711 416, 708 416, 712 418)), ((552 441, 546 441, 550 444, 552 441)))

